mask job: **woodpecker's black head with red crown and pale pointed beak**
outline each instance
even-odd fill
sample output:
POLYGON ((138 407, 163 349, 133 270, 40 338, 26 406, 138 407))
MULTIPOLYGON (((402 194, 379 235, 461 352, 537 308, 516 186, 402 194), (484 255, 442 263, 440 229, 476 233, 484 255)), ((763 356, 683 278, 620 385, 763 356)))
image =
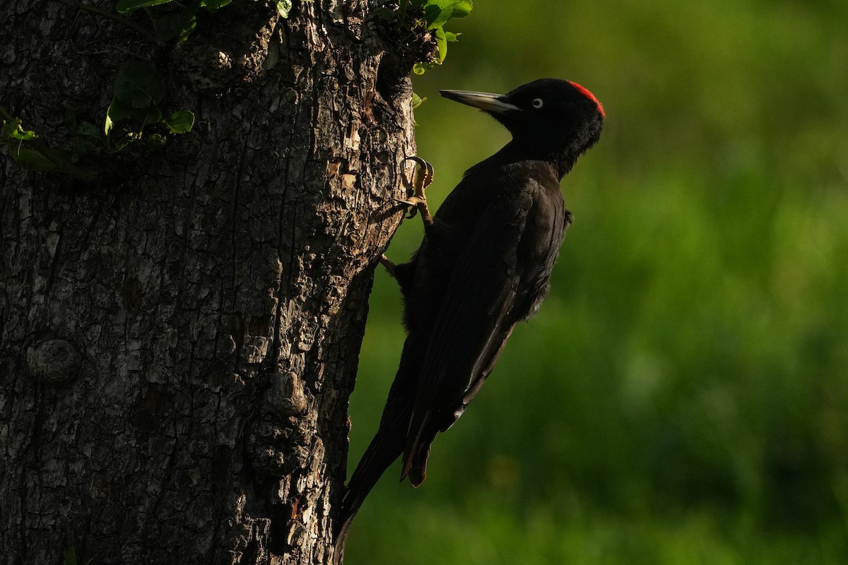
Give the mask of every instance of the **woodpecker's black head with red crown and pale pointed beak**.
POLYGON ((527 158, 561 164, 563 174, 598 141, 605 118, 598 99, 568 80, 533 80, 506 94, 440 93, 491 114, 510 130, 513 150, 527 158))

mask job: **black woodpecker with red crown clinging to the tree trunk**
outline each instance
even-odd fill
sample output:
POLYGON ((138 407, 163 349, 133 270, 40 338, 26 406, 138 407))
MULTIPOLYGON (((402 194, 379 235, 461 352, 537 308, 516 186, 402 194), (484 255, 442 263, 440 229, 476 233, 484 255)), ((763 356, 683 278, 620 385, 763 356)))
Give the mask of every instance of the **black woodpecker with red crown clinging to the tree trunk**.
POLYGON ((441 94, 494 116, 512 140, 468 169, 434 216, 426 181, 406 202, 421 211, 424 239, 409 263, 383 263, 404 296, 407 338, 380 428, 345 490, 337 562, 383 471, 403 456, 400 479, 421 485, 436 434, 465 411, 515 324, 538 310, 572 221, 560 181, 598 141, 605 118, 591 92, 566 80, 534 80, 505 95, 441 94))

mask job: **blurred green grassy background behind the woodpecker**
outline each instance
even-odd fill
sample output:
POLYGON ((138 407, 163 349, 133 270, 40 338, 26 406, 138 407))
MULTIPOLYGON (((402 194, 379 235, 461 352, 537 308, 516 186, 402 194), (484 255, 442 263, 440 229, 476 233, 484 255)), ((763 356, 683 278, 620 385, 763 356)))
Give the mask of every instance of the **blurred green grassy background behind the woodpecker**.
MULTIPOLYGON (((848 563, 848 3, 484 2, 416 77, 431 205, 508 135, 439 88, 575 80, 600 144, 575 221, 427 482, 389 469, 354 523, 365 563, 848 563)), ((389 256, 421 239, 404 222, 389 256)), ((351 469, 403 340, 371 295, 351 469)))

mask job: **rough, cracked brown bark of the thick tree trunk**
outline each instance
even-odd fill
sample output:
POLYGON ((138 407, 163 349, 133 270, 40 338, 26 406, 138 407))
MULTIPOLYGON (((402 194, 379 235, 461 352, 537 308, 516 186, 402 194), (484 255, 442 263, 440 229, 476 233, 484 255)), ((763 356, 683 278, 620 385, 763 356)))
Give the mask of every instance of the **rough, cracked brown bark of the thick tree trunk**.
POLYGON ((162 151, 79 163, 92 182, 3 151, 0 562, 328 561, 373 269, 415 152, 410 52, 431 47, 371 8, 236 0, 174 45, 0 3, 0 105, 52 145, 69 112, 103 123, 127 60, 197 116, 162 151))

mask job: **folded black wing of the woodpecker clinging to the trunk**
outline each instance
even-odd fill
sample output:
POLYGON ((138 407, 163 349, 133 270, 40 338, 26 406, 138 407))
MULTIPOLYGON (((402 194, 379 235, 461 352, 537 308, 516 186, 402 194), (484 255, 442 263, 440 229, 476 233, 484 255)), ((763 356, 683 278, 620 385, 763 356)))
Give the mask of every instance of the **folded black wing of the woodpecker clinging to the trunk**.
POLYGON ((519 258, 527 214, 541 190, 527 180, 522 191, 488 201, 457 255, 447 293, 432 324, 410 418, 403 476, 424 479, 434 435, 459 418, 491 372, 512 327, 522 295, 519 258), (411 473, 410 473, 411 471, 411 473))

